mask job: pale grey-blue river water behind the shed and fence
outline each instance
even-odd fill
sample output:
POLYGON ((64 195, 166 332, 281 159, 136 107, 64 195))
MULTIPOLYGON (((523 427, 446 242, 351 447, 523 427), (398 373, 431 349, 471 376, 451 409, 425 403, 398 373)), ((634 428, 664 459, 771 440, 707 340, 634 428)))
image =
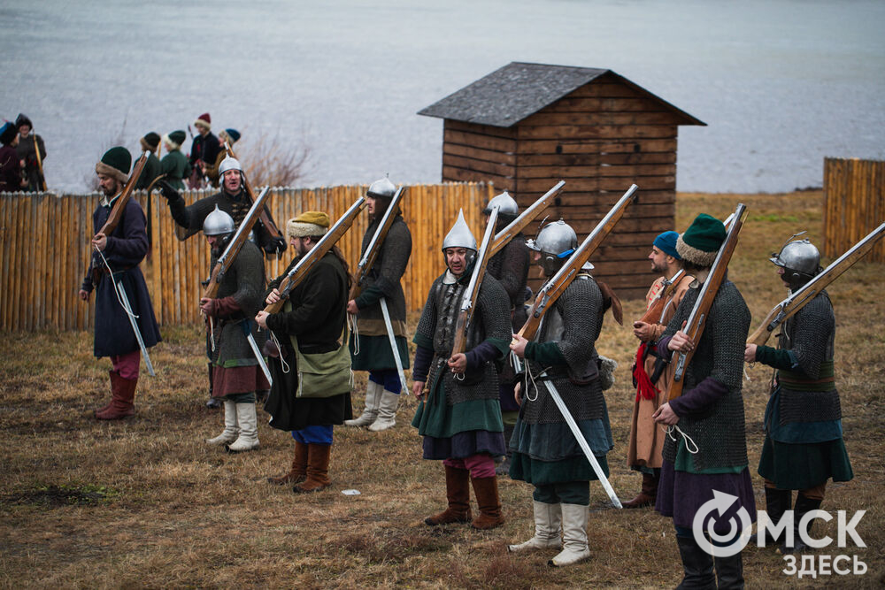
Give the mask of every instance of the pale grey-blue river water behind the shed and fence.
MULTIPOLYGON (((681 191, 820 186, 823 158, 885 158, 881 0, 2 0, 0 116, 81 191, 114 138, 213 129, 309 149, 302 186, 440 180, 417 111, 511 61, 612 69, 703 120, 681 191)), ((189 147, 189 142, 186 142, 189 147)))

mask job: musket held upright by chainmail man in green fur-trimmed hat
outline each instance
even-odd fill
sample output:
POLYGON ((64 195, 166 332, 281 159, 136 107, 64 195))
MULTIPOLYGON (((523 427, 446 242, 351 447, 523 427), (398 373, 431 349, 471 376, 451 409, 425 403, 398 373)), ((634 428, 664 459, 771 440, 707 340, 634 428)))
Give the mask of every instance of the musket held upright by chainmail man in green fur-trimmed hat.
MULTIPOLYGON (((732 254, 735 253, 738 234, 741 233, 743 218, 746 214, 746 205, 738 203, 737 209, 735 209, 735 217, 731 219, 731 224, 728 226, 725 241, 722 242, 719 252, 716 253, 716 257, 713 259, 710 272, 707 274, 706 280, 704 280, 704 287, 701 287, 700 293, 697 294, 695 306, 691 309, 685 327, 681 328, 682 332, 686 333, 692 342, 697 343, 700 341, 701 335, 704 333, 707 314, 710 312, 713 299, 716 298, 716 294, 719 292, 719 287, 722 284, 722 281, 725 280, 725 275, 728 270, 728 262, 731 260, 732 254)), ((667 402, 682 395, 682 387, 685 385, 685 381, 682 377, 684 376, 685 369, 689 366, 693 356, 695 356, 695 349, 691 349, 687 352, 673 350, 670 362, 676 368, 673 372, 673 380, 670 382, 670 387, 667 388, 667 402)))

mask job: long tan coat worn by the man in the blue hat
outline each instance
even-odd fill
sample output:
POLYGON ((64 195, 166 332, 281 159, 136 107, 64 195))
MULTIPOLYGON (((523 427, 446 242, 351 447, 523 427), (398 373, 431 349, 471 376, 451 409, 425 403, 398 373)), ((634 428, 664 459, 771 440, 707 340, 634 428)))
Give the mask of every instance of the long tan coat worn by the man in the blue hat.
MULTIPOLYGON (((663 316, 658 318, 649 318, 649 323, 655 324, 654 337, 652 341, 658 341, 661 334, 664 333, 667 322, 673 318, 676 308, 682 301, 682 295, 689 289, 691 282, 695 280, 690 275, 681 275, 672 286, 667 287, 664 298, 663 316)), ((664 288, 664 277, 659 277, 654 283, 647 295, 645 295, 646 309, 650 309, 652 304, 658 299, 661 290, 664 288)), ((651 376, 655 369, 655 356, 649 355, 645 359, 645 372, 651 376)), ((666 370, 661 374, 655 387, 658 387, 658 394, 654 399, 646 400, 642 396, 633 403, 633 420, 630 423, 630 442, 627 448, 627 464, 631 467, 651 467, 659 469, 661 466, 661 451, 664 448, 664 437, 666 434, 655 424, 651 416, 658 410, 662 398, 666 397, 667 385, 673 379, 673 367, 668 365, 666 370)))

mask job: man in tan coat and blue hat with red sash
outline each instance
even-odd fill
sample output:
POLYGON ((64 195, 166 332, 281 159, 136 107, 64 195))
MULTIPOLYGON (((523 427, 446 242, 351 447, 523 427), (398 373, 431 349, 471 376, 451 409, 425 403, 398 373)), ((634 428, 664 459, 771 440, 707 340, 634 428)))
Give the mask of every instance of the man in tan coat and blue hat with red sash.
POLYGON ((633 421, 627 448, 630 469, 643 474, 643 487, 633 500, 624 502, 624 508, 643 508, 654 505, 658 495, 661 450, 665 435, 651 416, 658 410, 667 384, 673 379, 673 367, 657 356, 655 344, 664 333, 667 322, 693 280, 682 268, 682 257, 676 251, 676 232, 664 232, 655 238, 649 259, 651 271, 662 273, 647 295, 642 318, 633 323, 633 335, 639 339, 639 349, 633 366, 633 384, 636 398, 633 402, 633 421))

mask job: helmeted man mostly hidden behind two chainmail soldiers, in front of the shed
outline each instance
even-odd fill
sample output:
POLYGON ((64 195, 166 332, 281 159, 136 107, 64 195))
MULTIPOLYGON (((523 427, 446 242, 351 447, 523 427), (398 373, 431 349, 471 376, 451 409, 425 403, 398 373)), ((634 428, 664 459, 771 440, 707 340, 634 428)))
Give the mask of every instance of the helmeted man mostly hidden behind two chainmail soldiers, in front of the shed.
MULTIPOLYGON (((519 217, 519 204, 516 203, 516 200, 507 191, 490 199, 485 209, 482 210, 482 214, 486 216, 487 220, 493 207, 498 208, 496 233, 519 217)), ((519 328, 526 323, 527 319, 525 303, 528 264, 526 238, 519 233, 514 235, 512 240, 507 242, 507 245, 495 256, 489 258, 489 264, 486 266, 486 272, 495 277, 501 283, 501 287, 504 287, 504 291, 507 292, 507 298, 510 301, 510 318, 513 332, 519 332, 519 328)), ((504 421, 504 442, 509 442, 513 435, 513 427, 516 425, 517 415, 519 414, 519 405, 513 397, 513 387, 516 386, 516 374, 513 372, 512 364, 502 364, 498 379, 498 401, 501 402, 501 418, 504 421)), ((504 460, 496 467, 495 471, 498 475, 506 475, 510 471, 510 454, 511 451, 508 448, 504 460)))

